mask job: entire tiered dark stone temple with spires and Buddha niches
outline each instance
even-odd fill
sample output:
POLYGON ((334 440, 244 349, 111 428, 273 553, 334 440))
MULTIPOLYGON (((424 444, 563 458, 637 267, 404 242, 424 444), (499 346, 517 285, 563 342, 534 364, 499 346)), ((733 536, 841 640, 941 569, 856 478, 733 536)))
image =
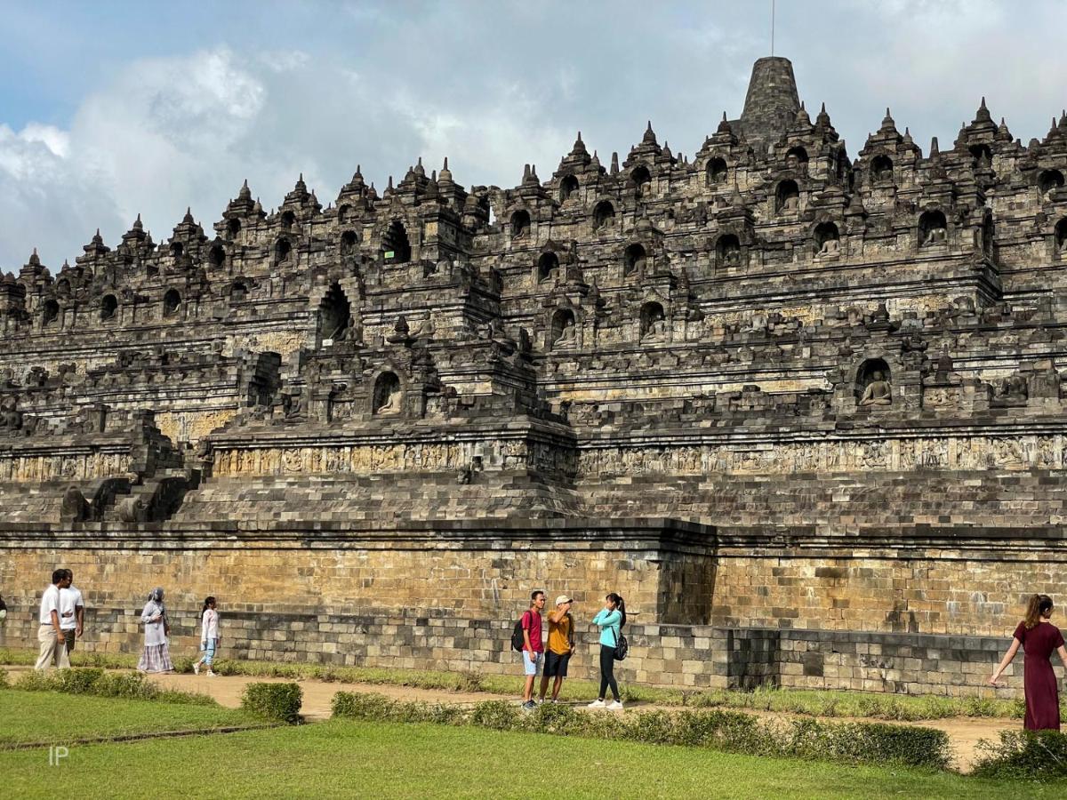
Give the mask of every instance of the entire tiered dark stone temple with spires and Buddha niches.
POLYGON ((228 655, 489 672, 618 591, 625 681, 976 691, 1067 594, 1067 116, 851 156, 768 58, 710 125, 3 275, 0 643, 57 565, 90 650, 162 586, 177 653, 214 594, 228 655))

